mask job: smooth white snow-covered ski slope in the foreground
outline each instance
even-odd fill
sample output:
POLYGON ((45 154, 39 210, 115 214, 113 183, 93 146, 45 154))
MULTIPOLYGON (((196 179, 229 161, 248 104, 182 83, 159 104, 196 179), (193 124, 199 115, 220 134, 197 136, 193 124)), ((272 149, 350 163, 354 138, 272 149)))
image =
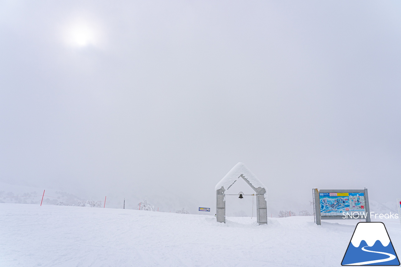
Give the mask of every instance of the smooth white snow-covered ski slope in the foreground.
MULTIPOLYGON (((0 266, 340 266, 358 222, 3 203, 0 266)), ((384 223, 401 254, 399 220, 384 223)))

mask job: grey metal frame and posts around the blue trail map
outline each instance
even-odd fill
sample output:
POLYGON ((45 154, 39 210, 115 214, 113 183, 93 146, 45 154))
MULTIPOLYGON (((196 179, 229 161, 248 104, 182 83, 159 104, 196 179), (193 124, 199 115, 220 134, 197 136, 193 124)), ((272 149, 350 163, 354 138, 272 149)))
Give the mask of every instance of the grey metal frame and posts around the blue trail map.
POLYGON ((317 225, 321 224, 321 220, 354 220, 354 219, 361 219, 361 218, 352 218, 352 216, 347 216, 343 218, 344 215, 321 215, 320 214, 320 198, 319 193, 364 193, 365 196, 365 212, 366 212, 366 219, 367 222, 371 221, 371 213, 369 209, 369 198, 368 198, 368 190, 367 188, 364 189, 318 189, 313 188, 313 208, 314 208, 314 218, 315 223, 317 225))

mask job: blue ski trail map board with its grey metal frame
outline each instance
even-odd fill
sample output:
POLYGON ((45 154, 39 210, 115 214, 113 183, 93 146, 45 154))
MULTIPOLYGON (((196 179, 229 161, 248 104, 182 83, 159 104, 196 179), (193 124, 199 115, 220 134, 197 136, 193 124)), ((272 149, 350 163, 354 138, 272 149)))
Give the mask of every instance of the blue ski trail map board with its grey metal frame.
POLYGON ((316 224, 320 220, 365 219, 371 221, 368 190, 313 189, 316 224))

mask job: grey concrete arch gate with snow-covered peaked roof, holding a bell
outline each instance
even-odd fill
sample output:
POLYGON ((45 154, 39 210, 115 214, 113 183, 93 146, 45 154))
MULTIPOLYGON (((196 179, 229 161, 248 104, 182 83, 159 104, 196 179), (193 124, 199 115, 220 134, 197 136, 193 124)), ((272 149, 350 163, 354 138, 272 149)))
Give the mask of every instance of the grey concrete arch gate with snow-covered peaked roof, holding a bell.
POLYGON ((267 190, 264 184, 239 162, 216 185, 216 219, 225 223, 225 190, 229 189, 239 178, 243 178, 256 192, 256 217, 259 225, 267 224, 267 190))

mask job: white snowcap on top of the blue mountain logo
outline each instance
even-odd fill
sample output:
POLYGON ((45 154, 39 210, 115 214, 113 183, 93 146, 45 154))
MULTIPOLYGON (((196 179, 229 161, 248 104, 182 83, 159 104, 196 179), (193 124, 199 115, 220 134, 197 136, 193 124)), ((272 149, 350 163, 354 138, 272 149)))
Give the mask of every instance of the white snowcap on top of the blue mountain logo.
POLYGON ((385 247, 390 243, 389 235, 383 223, 358 223, 351 243, 354 247, 359 247, 362 240, 365 240, 369 247, 375 245, 377 240, 385 247))

